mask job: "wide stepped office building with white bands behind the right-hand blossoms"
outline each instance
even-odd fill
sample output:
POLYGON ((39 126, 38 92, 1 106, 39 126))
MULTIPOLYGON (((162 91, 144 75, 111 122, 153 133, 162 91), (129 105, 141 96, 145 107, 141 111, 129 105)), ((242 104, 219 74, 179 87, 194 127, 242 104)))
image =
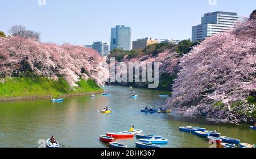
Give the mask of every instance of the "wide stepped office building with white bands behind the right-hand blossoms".
POLYGON ((201 18, 201 24, 192 27, 192 41, 204 40, 205 37, 230 30, 238 20, 241 20, 241 16, 235 12, 208 12, 201 18))

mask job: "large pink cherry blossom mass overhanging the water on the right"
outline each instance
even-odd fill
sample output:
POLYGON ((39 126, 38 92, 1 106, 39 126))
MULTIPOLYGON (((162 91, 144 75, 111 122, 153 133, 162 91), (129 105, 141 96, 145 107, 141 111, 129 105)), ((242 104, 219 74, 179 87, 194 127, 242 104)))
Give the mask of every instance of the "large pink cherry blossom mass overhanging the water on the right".
POLYGON ((180 67, 168 108, 214 122, 253 120, 255 106, 246 98, 256 90, 256 20, 208 37, 181 59, 180 67))

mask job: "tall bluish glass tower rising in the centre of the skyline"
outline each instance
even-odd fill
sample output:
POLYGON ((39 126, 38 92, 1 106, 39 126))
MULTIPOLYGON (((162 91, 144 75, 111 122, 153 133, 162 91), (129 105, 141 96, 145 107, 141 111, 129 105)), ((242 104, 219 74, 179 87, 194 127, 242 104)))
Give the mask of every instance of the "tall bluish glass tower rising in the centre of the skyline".
POLYGON ((115 26, 111 28, 111 44, 110 48, 123 49, 125 51, 131 50, 131 28, 125 26, 115 26))

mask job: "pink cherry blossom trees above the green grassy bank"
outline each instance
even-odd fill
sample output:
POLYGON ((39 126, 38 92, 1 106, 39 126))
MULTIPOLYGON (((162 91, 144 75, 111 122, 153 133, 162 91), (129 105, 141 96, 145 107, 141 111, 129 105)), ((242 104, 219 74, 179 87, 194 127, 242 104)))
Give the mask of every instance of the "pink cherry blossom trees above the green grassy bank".
POLYGON ((57 80, 64 77, 75 86, 80 77, 92 78, 103 85, 108 70, 101 67, 104 59, 92 49, 81 46, 39 43, 22 37, 0 37, 0 74, 2 77, 30 72, 57 80), (82 71, 83 70, 83 71, 82 71))

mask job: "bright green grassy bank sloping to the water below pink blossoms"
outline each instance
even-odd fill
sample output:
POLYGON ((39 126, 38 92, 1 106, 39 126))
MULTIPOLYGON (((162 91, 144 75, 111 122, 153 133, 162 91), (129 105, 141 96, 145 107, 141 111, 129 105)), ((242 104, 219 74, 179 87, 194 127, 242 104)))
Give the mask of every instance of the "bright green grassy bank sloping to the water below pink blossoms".
POLYGON ((7 77, 0 82, 0 98, 56 96, 102 91, 92 80, 81 80, 77 85, 79 86, 71 87, 63 78, 54 81, 47 77, 7 77))

